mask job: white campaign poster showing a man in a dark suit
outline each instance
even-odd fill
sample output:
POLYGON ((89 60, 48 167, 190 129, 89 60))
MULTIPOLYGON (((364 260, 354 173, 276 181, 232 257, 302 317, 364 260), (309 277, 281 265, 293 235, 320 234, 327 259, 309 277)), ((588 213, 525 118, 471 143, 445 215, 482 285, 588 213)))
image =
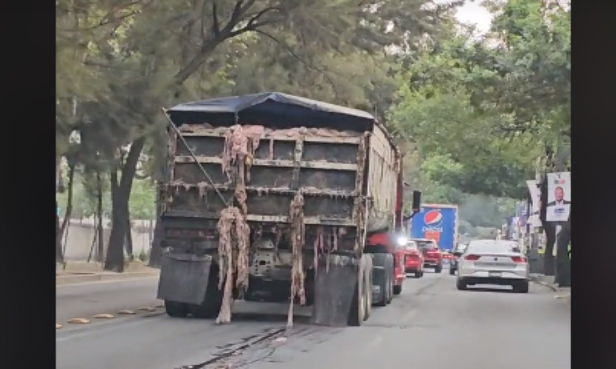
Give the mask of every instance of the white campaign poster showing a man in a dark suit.
POLYGON ((547 221, 567 221, 571 208, 571 173, 548 173, 547 221))

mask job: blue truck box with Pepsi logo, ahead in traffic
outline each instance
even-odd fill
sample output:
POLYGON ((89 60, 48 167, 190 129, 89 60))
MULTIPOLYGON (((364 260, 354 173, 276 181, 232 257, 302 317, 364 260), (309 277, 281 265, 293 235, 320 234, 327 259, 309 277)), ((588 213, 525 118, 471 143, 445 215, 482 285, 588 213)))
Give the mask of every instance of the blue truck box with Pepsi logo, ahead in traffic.
POLYGON ((458 242, 458 205, 426 204, 411 218, 414 239, 435 240, 440 250, 453 250, 458 242))

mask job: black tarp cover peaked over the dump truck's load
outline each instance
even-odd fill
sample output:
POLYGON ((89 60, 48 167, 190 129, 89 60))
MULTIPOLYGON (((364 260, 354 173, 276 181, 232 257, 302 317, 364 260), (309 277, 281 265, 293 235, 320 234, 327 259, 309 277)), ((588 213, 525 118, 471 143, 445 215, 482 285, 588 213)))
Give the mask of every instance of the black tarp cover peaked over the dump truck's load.
POLYGON ((376 122, 365 111, 280 92, 214 98, 182 103, 167 110, 176 125, 208 123, 214 126, 262 124, 266 127, 323 127, 371 130, 376 122))

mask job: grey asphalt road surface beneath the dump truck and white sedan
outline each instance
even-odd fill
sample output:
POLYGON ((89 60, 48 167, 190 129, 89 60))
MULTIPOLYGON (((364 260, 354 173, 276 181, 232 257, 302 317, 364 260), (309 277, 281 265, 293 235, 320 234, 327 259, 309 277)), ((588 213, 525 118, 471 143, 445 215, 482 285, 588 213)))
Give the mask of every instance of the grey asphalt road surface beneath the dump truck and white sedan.
MULTIPOLYGON (((108 285, 115 287, 91 288, 115 291, 115 308, 140 305, 131 295, 153 296, 156 287, 145 281, 108 285), (143 291, 136 287, 140 284, 143 291)), ((444 271, 408 279, 402 295, 386 308, 373 307, 370 319, 357 328, 315 327, 298 317, 285 332, 286 306, 275 304, 238 303, 235 310, 245 314, 222 326, 171 319, 158 309, 57 330, 56 367, 569 368, 570 308, 554 295, 537 285, 527 295, 499 287, 458 291, 455 277, 444 271)))

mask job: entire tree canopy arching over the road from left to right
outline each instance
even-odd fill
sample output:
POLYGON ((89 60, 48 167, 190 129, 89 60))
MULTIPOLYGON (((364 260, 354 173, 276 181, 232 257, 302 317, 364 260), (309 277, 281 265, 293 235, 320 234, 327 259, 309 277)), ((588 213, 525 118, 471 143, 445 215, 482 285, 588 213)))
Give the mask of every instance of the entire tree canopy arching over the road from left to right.
POLYGON ((455 20, 462 3, 59 0, 57 159, 83 196, 105 192, 121 250, 129 216, 152 212, 160 109, 278 90, 374 113, 427 200, 521 198, 537 157, 570 141, 569 7, 487 1, 479 35, 455 20))

